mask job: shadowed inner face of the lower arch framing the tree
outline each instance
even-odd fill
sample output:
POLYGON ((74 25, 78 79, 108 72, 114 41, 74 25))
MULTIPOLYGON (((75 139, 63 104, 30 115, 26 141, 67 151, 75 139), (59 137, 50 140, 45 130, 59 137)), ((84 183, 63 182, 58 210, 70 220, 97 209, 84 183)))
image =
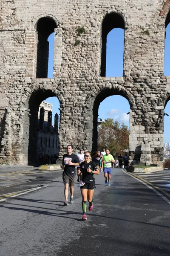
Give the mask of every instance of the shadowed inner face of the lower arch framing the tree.
MULTIPOLYGON (((130 105, 130 110, 133 108, 133 97, 130 93, 127 93, 125 90, 119 90, 118 88, 105 89, 98 93, 96 98, 94 99, 93 104, 93 144, 92 151, 97 150, 97 118, 98 118, 98 110, 100 103, 109 96, 120 95, 128 100, 130 105)), ((131 111, 130 111, 131 115, 131 111)))

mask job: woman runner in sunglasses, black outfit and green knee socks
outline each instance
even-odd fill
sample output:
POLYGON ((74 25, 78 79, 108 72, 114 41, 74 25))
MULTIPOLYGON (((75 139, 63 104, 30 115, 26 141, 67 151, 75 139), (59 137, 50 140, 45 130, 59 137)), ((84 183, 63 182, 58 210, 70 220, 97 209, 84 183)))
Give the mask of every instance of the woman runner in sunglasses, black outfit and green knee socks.
MULTIPOLYGON (((96 154, 96 152, 95 152, 96 154)), ((80 169, 78 173, 81 177, 80 189, 82 194, 82 211, 83 216, 82 220, 87 220, 86 216, 86 208, 87 208, 87 200, 89 202, 88 210, 91 212, 93 209, 93 194, 95 189, 95 179, 94 174, 99 174, 99 168, 97 167, 96 163, 91 161, 91 152, 85 152, 85 161, 80 163, 80 169)))

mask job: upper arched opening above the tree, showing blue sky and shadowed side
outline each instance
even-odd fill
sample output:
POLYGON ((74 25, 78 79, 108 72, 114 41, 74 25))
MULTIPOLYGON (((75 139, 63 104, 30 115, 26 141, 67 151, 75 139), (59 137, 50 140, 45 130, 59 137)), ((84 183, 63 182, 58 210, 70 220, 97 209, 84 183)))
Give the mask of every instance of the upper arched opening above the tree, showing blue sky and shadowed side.
MULTIPOLYGON (((107 14, 105 16, 103 22, 102 22, 102 52, 101 52, 100 75, 104 76, 104 77, 106 76, 106 56, 107 56, 107 52, 108 52, 108 55, 111 55, 112 51, 114 50, 113 48, 115 48, 114 43, 117 41, 117 38, 118 38, 118 34, 117 35, 115 34, 115 32, 117 32, 115 30, 116 28, 123 29, 123 31, 122 31, 123 36, 121 35, 120 37, 122 38, 121 43, 123 41, 121 48, 123 47, 123 50, 124 50, 125 22, 123 20, 123 17, 121 15, 119 15, 118 13, 115 13, 115 12, 107 14), (110 32, 111 32, 111 34, 108 35, 110 32), (107 44, 107 39, 108 39, 109 44, 107 44), (107 47, 109 48, 109 51, 107 51, 107 47)), ((117 41, 117 42, 119 42, 119 41, 117 41)), ((115 51, 114 57, 115 58, 112 57, 113 62, 116 63, 116 51, 115 51)), ((123 53, 119 57, 122 58, 122 61, 120 62, 120 67, 122 67, 123 66, 123 53)), ((109 59, 107 61, 109 61, 109 59)), ((108 65, 112 66, 113 62, 108 64, 108 65)), ((107 67, 107 69, 108 69, 108 67, 107 67)), ((121 68, 121 70, 122 70, 122 68, 121 68)), ((111 74, 114 74, 112 76, 116 76, 116 74, 113 73, 113 71, 111 72, 111 74)), ((109 75, 110 75, 110 73, 109 73, 109 75)), ((107 76, 108 76, 108 74, 107 74, 107 76)))

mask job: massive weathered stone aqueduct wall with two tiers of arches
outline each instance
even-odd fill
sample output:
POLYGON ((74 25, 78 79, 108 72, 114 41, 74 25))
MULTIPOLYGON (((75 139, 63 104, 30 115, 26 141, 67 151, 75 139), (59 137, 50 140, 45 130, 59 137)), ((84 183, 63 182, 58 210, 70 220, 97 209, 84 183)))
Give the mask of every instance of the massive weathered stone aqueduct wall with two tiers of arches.
POLYGON ((130 159, 162 164, 169 22, 169 0, 2 0, 1 163, 27 164, 28 154, 34 160, 37 110, 50 96, 60 102, 60 156, 71 142, 96 150, 99 104, 117 94, 130 104, 130 159), (105 77, 106 37, 117 27, 125 29, 123 77, 105 77), (52 32, 54 72, 48 79, 52 32))

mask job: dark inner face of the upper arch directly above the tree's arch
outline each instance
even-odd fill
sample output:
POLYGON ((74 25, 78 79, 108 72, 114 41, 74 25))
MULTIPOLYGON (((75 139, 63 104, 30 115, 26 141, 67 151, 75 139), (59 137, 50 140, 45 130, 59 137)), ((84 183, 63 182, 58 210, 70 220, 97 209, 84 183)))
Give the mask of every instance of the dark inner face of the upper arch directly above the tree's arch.
POLYGON ((115 28, 125 29, 125 19, 120 12, 108 12, 102 20, 102 51, 100 75, 106 74, 106 43, 108 33, 115 28))

